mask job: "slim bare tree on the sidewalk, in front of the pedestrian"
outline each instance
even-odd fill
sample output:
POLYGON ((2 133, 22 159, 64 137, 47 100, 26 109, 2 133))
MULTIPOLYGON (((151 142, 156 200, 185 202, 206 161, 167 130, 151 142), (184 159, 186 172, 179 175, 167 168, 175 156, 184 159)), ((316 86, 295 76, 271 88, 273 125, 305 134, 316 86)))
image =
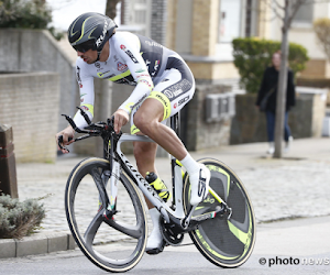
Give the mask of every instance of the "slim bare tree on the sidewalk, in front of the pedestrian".
POLYGON ((284 135, 284 116, 286 106, 287 88, 287 59, 288 59, 288 32, 294 16, 302 4, 315 4, 318 2, 328 2, 324 0, 264 0, 276 16, 282 21, 282 63, 277 84, 276 98, 276 122, 275 122, 275 152, 274 157, 282 157, 282 140, 284 135))

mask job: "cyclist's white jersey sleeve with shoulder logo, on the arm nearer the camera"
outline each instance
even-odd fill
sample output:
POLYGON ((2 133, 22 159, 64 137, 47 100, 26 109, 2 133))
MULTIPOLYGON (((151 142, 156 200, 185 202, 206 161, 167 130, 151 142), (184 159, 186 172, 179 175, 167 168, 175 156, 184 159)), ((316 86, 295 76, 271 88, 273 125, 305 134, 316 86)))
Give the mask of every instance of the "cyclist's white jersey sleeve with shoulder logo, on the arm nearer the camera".
POLYGON ((154 88, 147 67, 140 54, 140 41, 138 36, 134 35, 134 37, 135 40, 128 41, 127 37, 120 36, 114 44, 136 82, 131 96, 119 107, 119 109, 125 110, 129 114, 134 107, 147 98, 154 88))

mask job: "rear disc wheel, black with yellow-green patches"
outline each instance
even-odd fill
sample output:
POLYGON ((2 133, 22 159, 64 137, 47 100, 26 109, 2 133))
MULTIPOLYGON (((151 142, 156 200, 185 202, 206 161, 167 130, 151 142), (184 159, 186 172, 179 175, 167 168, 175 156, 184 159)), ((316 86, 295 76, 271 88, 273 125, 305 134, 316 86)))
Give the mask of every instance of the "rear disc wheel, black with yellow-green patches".
MULTIPOLYGON (((228 213, 201 221, 189 235, 199 252, 211 263, 221 267, 238 267, 250 257, 255 243, 255 218, 249 195, 235 175, 226 164, 213 158, 198 161, 211 172, 210 187, 232 209, 228 213)), ((186 174, 184 179, 184 209, 191 209, 189 204, 190 183, 186 174)), ((215 211, 221 204, 209 193, 193 213, 195 216, 215 211)))

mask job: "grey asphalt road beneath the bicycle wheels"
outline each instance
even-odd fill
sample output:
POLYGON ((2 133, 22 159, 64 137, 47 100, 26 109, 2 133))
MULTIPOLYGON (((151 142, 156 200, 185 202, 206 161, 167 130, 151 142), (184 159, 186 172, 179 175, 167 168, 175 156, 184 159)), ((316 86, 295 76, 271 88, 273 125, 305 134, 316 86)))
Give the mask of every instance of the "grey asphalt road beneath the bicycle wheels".
MULTIPOLYGON (((248 262, 233 270, 208 262, 187 235, 184 245, 162 254, 145 254, 127 274, 330 274, 330 216, 257 224, 256 243, 248 262)), ((117 243, 121 248, 120 243, 117 243)), ((107 245, 102 249, 107 250, 107 245)), ((107 274, 77 249, 37 256, 0 260, 1 274, 107 274)))

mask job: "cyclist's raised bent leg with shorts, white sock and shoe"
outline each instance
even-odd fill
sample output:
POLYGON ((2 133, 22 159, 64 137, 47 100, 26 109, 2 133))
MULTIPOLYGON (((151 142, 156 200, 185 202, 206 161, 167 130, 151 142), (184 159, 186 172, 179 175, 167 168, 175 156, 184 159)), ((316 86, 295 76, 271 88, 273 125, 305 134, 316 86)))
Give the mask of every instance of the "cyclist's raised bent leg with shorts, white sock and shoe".
POLYGON ((169 154, 179 160, 191 182, 191 205, 199 204, 208 194, 210 172, 187 152, 176 133, 161 122, 177 113, 195 92, 195 81, 188 66, 173 58, 173 68, 166 70, 150 97, 134 116, 134 124, 169 154))

